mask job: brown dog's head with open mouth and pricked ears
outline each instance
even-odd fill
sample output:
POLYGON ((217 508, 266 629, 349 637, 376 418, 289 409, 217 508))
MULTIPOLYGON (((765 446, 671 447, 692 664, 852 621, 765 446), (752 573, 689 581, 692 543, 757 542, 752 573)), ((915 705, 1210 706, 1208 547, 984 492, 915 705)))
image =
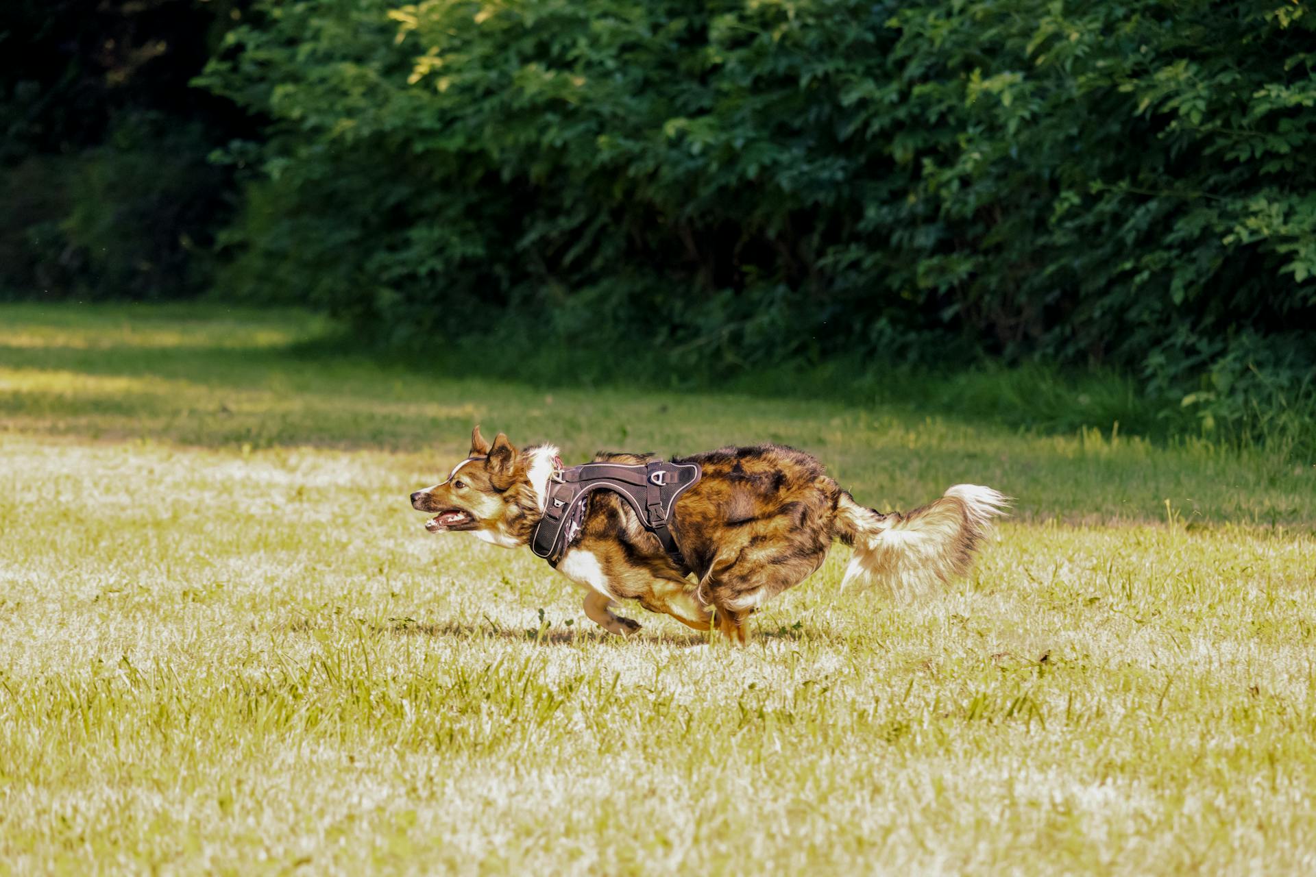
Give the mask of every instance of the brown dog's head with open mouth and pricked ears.
POLYGON ((447 480, 411 496, 412 508, 433 511, 430 533, 470 533, 484 542, 513 547, 529 542, 540 506, 524 455, 499 433, 490 444, 476 426, 471 452, 447 480))

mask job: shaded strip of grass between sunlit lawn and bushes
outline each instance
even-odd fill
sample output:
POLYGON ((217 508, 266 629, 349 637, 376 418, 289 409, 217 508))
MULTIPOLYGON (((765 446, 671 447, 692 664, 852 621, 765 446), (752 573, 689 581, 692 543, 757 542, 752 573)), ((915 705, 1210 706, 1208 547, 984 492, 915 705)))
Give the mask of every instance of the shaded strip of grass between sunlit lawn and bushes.
MULTIPOLYGON (((284 314, 284 329, 247 314, 125 330, 137 313, 150 312, 43 317, 0 308, 0 368, 20 371, 0 384, 0 431, 243 450, 428 451, 437 473, 461 459, 471 425, 482 422, 517 444, 551 440, 571 460, 599 448, 690 454, 792 444, 817 454, 883 510, 913 508, 957 481, 1020 497, 1019 519, 1162 519, 1173 501, 1208 519, 1277 523, 1308 519, 1312 504, 1309 476, 1295 475, 1291 462, 1237 462, 1208 447, 1153 454, 1123 438, 1123 421, 1117 446, 1104 434, 1037 439, 1003 426, 1019 419, 1012 414, 973 413, 999 397, 957 406, 953 400, 973 393, 953 379, 888 373, 883 396, 833 363, 804 377, 762 375, 707 392, 696 388, 717 383, 716 373, 670 368, 657 377, 615 371, 609 384, 596 385, 584 373, 530 368, 517 351, 503 351, 499 368, 516 376, 501 379, 487 375, 487 356, 461 350, 436 351, 430 362, 380 362, 305 316, 284 314), (674 391, 672 381, 688 389, 674 391)), ((1112 398, 1124 392, 1112 387, 1112 398)), ((1044 401, 1000 406, 1057 405, 1044 401)))

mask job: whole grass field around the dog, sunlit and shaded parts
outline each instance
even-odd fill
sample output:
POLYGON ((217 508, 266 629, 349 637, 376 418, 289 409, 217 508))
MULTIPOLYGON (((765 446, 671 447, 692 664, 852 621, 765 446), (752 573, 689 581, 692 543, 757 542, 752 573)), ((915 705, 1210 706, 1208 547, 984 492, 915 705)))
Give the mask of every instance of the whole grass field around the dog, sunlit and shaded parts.
POLYGON ((382 367, 296 313, 0 308, 0 872, 1311 873, 1316 469, 1109 426, 382 367), (407 494, 474 422, 1017 497, 736 650, 407 494))

